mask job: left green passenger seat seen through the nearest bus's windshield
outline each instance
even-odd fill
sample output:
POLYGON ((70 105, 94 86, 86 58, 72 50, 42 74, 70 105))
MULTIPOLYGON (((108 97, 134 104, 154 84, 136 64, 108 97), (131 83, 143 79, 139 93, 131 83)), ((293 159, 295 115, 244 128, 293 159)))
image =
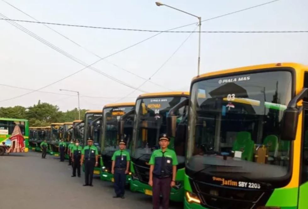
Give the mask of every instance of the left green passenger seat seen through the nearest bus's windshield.
POLYGON ((232 151, 241 151, 242 159, 252 161, 254 154, 254 141, 251 140, 251 134, 247 131, 240 131, 236 134, 232 151))

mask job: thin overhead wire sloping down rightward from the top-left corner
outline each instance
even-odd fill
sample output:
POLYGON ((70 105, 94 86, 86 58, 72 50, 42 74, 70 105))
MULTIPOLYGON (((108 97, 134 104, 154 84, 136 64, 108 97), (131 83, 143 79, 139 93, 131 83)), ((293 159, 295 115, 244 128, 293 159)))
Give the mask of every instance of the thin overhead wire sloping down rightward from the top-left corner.
MULTIPOLYGON (((25 12, 22 11, 21 9, 17 8, 16 6, 14 6, 14 5, 8 3, 8 2, 5 1, 5 0, 2 0, 2 1, 3 1, 4 3, 8 4, 9 6, 15 8, 16 10, 20 11, 21 13, 25 14, 26 16, 30 17, 31 19, 34 19, 35 21, 38 21, 38 22, 39 22, 38 19, 35 19, 35 18, 32 17, 30 14, 25 13, 25 12)), ((73 41, 72 39, 70 39, 69 37, 63 35, 63 34, 60 33, 59 31, 54 30, 53 28, 49 27, 49 26, 46 25, 46 24, 43 24, 43 25, 44 25, 45 27, 47 27, 48 29, 52 30, 53 32, 57 33, 58 35, 64 37, 64 38, 67 39, 68 41, 72 42, 72 43, 75 44, 76 46, 81 47, 82 49, 84 49, 84 50, 87 51, 88 53, 90 53, 90 54, 92 54, 92 55, 94 55, 94 56, 96 56, 96 57, 98 57, 98 58, 102 58, 102 57, 99 56, 98 54, 96 54, 96 53, 94 53, 94 52, 88 50, 86 47, 81 46, 81 45, 78 44, 76 41, 73 41)), ((129 71, 129 70, 127 70, 127 69, 124 69, 123 67, 120 67, 120 66, 118 66, 118 65, 115 64, 115 63, 112 63, 112 62, 110 62, 110 61, 108 61, 108 60, 104 60, 104 61, 107 62, 107 63, 109 63, 109 64, 111 64, 111 65, 113 65, 113 66, 115 66, 115 67, 117 67, 118 69, 121 69, 121 70, 123 70, 123 71, 126 71, 127 73, 132 74, 132 75, 134 75, 134 76, 136 76, 136 77, 138 77, 138 78, 141 78, 141 79, 143 79, 143 80, 147 80, 146 78, 144 78, 144 77, 142 77, 142 76, 140 76, 140 75, 138 75, 138 74, 132 73, 131 71, 129 71)), ((149 81, 149 82, 152 83, 152 84, 154 84, 154 85, 160 86, 161 88, 165 88, 164 86, 159 85, 159 84, 156 84, 156 83, 154 83, 154 82, 152 82, 152 81, 149 81)), ((167 88, 167 89, 168 89, 168 88, 167 88)))

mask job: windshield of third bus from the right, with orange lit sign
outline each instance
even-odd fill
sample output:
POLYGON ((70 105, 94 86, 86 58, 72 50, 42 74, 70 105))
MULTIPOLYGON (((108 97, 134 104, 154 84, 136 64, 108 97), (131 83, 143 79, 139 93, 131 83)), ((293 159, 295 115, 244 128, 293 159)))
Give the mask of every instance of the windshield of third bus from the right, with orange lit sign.
MULTIPOLYGON (((120 117, 134 107, 110 107, 104 108, 104 128, 103 128, 103 154, 118 149, 118 121, 120 117)), ((132 141, 133 115, 127 117, 124 123, 124 138, 126 140, 126 149, 130 151, 132 141)))

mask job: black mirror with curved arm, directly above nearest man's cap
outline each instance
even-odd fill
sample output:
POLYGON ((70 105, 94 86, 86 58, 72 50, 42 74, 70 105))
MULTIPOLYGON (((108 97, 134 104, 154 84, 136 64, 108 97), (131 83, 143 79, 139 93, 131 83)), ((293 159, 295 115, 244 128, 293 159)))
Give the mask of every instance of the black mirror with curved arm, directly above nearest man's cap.
POLYGON ((169 137, 176 136, 176 114, 175 114, 176 111, 178 111, 180 108, 184 106, 188 106, 188 104, 189 104, 189 99, 187 98, 169 110, 167 117, 167 135, 169 137))

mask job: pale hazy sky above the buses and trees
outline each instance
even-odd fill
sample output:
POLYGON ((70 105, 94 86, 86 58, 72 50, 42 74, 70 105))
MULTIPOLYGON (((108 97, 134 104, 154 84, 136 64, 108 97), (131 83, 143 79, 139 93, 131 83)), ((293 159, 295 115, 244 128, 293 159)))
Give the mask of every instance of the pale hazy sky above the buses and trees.
MULTIPOLYGON (((191 24, 196 18, 165 6, 157 7, 155 0, 6 0, 23 12, 42 22, 89 25, 113 28, 167 30, 191 24)), ((161 0, 162 3, 201 16, 202 19, 248 8, 270 0, 161 0)), ((202 30, 308 30, 308 1, 280 0, 247 11, 231 14, 202 23, 202 30)), ((33 20, 0 0, 0 13, 10 19, 33 20)), ((21 23, 65 52, 91 64, 100 57, 120 51, 153 32, 103 30, 49 25, 83 48, 48 29, 42 24, 21 23)), ((179 30, 191 31, 196 25, 179 30)), ((95 68, 131 86, 139 87, 144 80, 125 72, 131 71, 149 78, 176 51, 188 37, 188 33, 163 33, 126 51, 120 52, 95 65, 95 68), (108 62, 106 62, 108 61, 108 62), (113 64, 123 69, 115 67, 113 64)), ((308 33, 203 33, 201 35, 201 73, 240 66, 298 62, 308 64, 308 33)), ((25 32, 0 20, 0 100, 30 92, 1 85, 38 89, 51 84, 82 68, 59 52, 44 45, 25 32)), ((197 75, 198 34, 194 33, 160 71, 140 87, 146 92, 189 91, 191 79, 197 75)), ((105 104, 118 101, 132 91, 102 74, 85 69, 41 91, 59 94, 79 91, 80 106, 85 109, 101 109, 105 104), (84 96, 105 97, 89 98, 84 96)), ((141 91, 135 91, 119 102, 134 102, 141 91)), ((0 107, 22 105, 25 107, 42 102, 58 105, 66 111, 77 106, 76 96, 34 92, 26 96, 0 102, 0 107)))

